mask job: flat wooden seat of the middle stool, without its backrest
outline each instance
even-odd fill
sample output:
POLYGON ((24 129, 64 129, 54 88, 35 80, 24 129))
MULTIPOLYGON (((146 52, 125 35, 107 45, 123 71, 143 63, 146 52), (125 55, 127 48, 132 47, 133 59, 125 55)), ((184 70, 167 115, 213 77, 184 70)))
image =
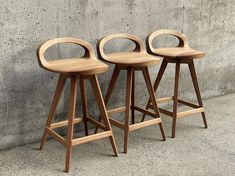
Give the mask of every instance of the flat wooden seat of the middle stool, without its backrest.
POLYGON ((116 52, 106 54, 105 61, 125 66, 149 66, 160 62, 160 59, 146 52, 116 52))

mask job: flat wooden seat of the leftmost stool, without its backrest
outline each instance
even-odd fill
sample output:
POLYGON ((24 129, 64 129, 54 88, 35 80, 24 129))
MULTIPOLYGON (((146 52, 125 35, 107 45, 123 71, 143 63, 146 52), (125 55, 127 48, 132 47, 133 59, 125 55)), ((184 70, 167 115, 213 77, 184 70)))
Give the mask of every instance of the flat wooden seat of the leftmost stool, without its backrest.
POLYGON ((108 65, 97 59, 69 58, 48 61, 47 69, 57 73, 97 74, 108 70, 108 65))

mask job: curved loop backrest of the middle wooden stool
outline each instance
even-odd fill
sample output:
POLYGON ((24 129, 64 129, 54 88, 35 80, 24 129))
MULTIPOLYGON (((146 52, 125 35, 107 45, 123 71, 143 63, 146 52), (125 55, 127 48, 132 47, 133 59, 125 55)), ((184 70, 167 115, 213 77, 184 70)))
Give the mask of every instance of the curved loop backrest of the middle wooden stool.
POLYGON ((98 51, 98 55, 104 59, 107 60, 108 59, 108 55, 104 53, 104 46, 107 42, 109 42, 110 40, 113 39, 118 39, 118 38, 124 38, 124 39, 128 39, 131 40, 132 42, 135 43, 135 49, 133 50, 133 52, 143 52, 144 51, 144 42, 131 34, 112 34, 112 35, 108 35, 103 37, 102 39, 99 40, 98 45, 97 45, 97 51, 98 51))

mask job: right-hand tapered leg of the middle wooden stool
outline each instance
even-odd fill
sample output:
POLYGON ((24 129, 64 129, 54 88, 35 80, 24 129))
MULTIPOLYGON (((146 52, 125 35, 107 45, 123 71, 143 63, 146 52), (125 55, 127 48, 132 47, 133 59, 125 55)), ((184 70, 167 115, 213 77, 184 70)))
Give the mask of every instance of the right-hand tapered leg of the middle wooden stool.
MULTIPOLYGON (((160 118, 160 113, 159 113, 159 109, 158 109, 158 106, 157 106, 157 101, 156 101, 155 93, 154 93, 154 90, 153 90, 153 87, 152 87, 152 83, 151 83, 150 75, 149 75, 149 72, 148 72, 148 68, 145 67, 142 70, 142 72, 143 72, 143 75, 144 75, 145 83, 146 83, 147 88, 148 88, 148 92, 149 92, 149 95, 150 95, 150 101, 152 102, 154 112, 157 115, 157 117, 160 118)), ((160 127, 160 131, 161 131, 161 134, 162 134, 162 138, 165 141, 166 137, 165 137, 162 122, 159 123, 159 127, 160 127)))

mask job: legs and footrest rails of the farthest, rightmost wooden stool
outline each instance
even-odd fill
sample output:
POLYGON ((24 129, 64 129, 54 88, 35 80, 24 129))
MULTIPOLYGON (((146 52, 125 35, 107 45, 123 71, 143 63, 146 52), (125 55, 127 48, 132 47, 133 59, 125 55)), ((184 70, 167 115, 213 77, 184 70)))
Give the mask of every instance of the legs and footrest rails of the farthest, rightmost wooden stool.
MULTIPOLYGON (((203 118, 203 122, 205 125, 205 128, 207 128, 207 121, 206 121, 206 116, 205 116, 205 112, 204 112, 204 108, 203 108, 203 103, 202 103, 202 98, 201 98, 201 94, 200 94, 200 90, 199 90, 199 85, 198 85, 198 81, 197 81, 197 76, 196 76, 196 71, 195 71, 195 66, 194 66, 194 62, 192 59, 167 59, 164 58, 163 62, 161 64, 159 73, 157 75, 156 81, 154 83, 154 91, 157 91, 157 88, 160 84, 160 81, 163 77, 163 74, 165 72, 165 69, 167 67, 168 63, 175 63, 176 64, 176 68, 175 68, 175 86, 174 86, 174 96, 172 97, 165 97, 165 98, 161 98, 161 99, 157 99, 158 103, 163 103, 163 102, 169 102, 169 101, 173 101, 173 112, 159 108, 160 112, 171 116, 173 118, 173 122, 172 122, 172 137, 175 137, 175 131, 176 131, 176 120, 185 116, 189 116, 189 115, 193 115, 196 113, 201 113, 202 114, 202 118, 203 118), (191 102, 182 100, 178 98, 178 88, 179 88, 179 73, 180 73, 180 64, 188 64, 189 67, 189 71, 192 77, 192 81, 193 81, 193 86, 196 92, 196 96, 197 96, 197 100, 199 105, 193 104, 191 102), (192 110, 188 110, 188 111, 183 111, 183 112, 177 112, 177 105, 178 103, 184 104, 186 106, 192 107, 192 110)), ((152 103, 151 100, 148 100, 148 103, 146 105, 146 109, 152 109, 152 103)), ((142 117, 142 121, 144 121, 146 116, 146 113, 143 114, 142 117)))

